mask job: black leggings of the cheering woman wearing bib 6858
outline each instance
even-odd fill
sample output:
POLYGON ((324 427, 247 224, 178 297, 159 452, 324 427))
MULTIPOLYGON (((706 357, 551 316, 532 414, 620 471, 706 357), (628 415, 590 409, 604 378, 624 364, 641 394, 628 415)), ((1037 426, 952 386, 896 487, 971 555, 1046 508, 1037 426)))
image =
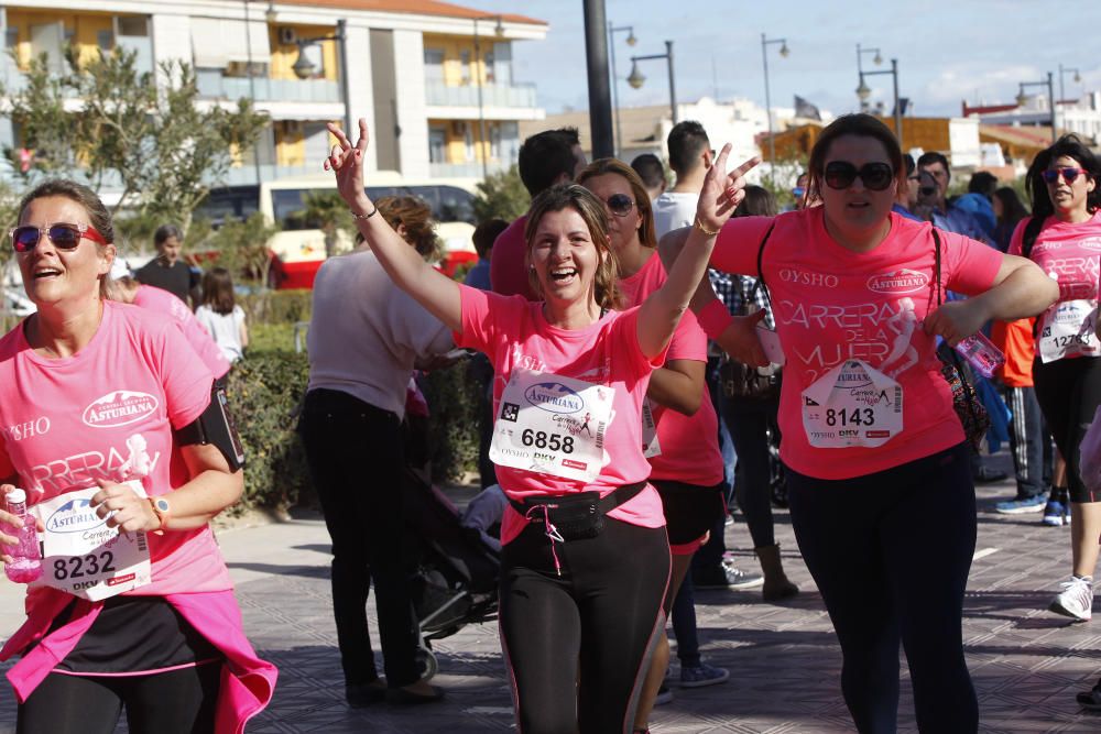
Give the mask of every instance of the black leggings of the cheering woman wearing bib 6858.
POLYGON ((520 734, 630 732, 669 579, 665 528, 606 518, 555 544, 528 525, 501 558, 501 645, 520 734))

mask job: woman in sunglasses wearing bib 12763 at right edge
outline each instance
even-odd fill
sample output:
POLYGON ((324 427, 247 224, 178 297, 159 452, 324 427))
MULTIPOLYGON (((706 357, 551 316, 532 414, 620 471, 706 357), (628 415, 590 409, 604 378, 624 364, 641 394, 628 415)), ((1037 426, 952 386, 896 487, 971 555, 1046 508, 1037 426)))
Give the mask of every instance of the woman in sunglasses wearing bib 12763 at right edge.
MULTIPOLYGON (((1086 621, 1101 535, 1101 493, 1082 483, 1079 443, 1101 404, 1098 272, 1101 258, 1101 163, 1075 135, 1039 153, 1025 178, 1033 216, 1017 224, 1010 253, 1023 254, 1059 284, 1059 302, 1036 319, 1033 380, 1044 420, 1067 462, 1071 576, 1050 610, 1086 621)), ((1053 496, 1048 511, 1067 496, 1053 496)), ((1045 516, 1049 514, 1045 511, 1045 516)))

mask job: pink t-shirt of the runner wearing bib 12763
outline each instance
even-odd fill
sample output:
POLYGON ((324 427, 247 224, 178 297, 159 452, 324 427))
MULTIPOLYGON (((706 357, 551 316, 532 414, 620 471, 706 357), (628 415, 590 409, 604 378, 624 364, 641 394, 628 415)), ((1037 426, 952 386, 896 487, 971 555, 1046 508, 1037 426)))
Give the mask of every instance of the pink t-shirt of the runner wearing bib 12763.
MULTIPOLYGON (((1023 253, 1025 227, 1031 218, 1022 219, 1013 230, 1009 249, 1011 255, 1023 253)), ((1036 235, 1036 242, 1033 243, 1028 256, 1040 266, 1040 270, 1061 284, 1090 284, 1091 295, 1086 299, 1092 300, 1095 307, 1099 295, 1098 276, 1101 274, 1101 210, 1094 211, 1087 221, 1077 224, 1048 217, 1036 235)), ((1082 296, 1075 295, 1073 298, 1082 296)), ((1060 295, 1059 300, 1064 299, 1060 295)), ((1067 353, 1067 358, 1075 357, 1081 354, 1073 350, 1067 353)))

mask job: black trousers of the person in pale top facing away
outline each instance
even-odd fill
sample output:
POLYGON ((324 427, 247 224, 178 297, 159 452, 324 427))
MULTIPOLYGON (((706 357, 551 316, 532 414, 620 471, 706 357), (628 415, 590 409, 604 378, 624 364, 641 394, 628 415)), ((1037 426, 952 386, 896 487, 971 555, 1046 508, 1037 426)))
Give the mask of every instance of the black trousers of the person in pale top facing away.
POLYGON ((372 582, 386 683, 396 688, 419 678, 403 543, 400 428, 393 413, 333 390, 309 391, 299 423, 333 538, 333 614, 348 684, 378 678, 367 629, 372 582))

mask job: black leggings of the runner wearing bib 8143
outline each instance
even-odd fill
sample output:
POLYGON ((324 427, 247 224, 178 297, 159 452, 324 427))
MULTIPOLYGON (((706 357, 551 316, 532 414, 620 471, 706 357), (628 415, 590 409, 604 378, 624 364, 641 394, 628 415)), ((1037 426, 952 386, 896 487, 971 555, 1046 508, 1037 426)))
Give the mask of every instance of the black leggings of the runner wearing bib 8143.
POLYGON ((974 734, 963 658, 963 591, 974 554, 967 443, 848 480, 788 470, 792 525, 841 645, 841 691, 857 731, 898 716, 898 642, 920 732, 974 734))

